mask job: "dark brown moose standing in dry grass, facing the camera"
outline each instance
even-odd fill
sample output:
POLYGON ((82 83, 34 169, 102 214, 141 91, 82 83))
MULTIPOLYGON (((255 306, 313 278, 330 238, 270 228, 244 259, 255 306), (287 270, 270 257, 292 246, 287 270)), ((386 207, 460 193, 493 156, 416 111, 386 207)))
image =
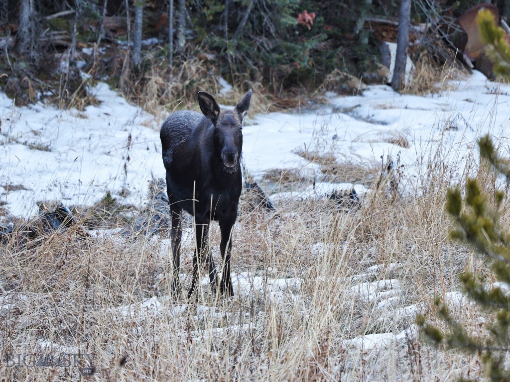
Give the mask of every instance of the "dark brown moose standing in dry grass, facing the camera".
MULTIPOLYGON (((193 255, 193 278, 188 297, 198 281, 198 264, 208 265, 211 289, 216 292, 218 275, 207 234, 211 220, 219 223, 223 271, 220 292, 234 295, 230 275, 231 234, 237 218, 241 195, 240 159, 243 147, 241 123, 250 107, 251 90, 234 110, 222 110, 206 92, 198 92, 203 115, 191 111, 172 113, 160 131, 163 163, 172 220, 173 292, 180 294, 181 212, 194 216, 196 250, 193 255)), ((198 296, 197 296, 198 298, 198 296)))

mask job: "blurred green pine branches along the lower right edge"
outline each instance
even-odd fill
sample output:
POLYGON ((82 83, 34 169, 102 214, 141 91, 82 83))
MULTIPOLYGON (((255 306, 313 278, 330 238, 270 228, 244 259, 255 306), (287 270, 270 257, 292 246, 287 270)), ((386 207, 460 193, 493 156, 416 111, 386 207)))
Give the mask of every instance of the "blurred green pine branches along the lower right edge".
MULTIPOLYGON (((507 161, 500 158, 489 135, 478 141, 480 156, 490 163, 497 174, 510 174, 507 161)), ((446 211, 453 217, 456 229, 450 234, 454 240, 470 245, 487 259, 499 282, 510 284, 510 247, 508 232, 500 225, 500 206, 504 194, 496 192, 491 199, 484 195, 476 179, 468 179, 463 193, 459 188, 449 189, 446 211)), ((464 294, 480 307, 491 322, 484 336, 474 337, 454 319, 445 304, 436 298, 436 314, 446 330, 417 318, 421 333, 432 343, 469 354, 480 354, 484 375, 492 381, 510 381, 510 372, 504 369, 506 351, 510 345, 510 296, 499 286, 489 287, 475 275, 465 272, 461 277, 464 294)))

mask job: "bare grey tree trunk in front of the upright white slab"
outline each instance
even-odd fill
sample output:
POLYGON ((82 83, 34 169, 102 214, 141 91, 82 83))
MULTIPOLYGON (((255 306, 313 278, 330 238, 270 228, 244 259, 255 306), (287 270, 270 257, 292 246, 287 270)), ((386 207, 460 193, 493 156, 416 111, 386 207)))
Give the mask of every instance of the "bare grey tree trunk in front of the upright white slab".
POLYGON ((397 51, 391 87, 400 91, 405 85, 405 62, 407 61, 407 45, 409 45, 409 29, 411 23, 411 0, 400 0, 398 15, 397 51))

